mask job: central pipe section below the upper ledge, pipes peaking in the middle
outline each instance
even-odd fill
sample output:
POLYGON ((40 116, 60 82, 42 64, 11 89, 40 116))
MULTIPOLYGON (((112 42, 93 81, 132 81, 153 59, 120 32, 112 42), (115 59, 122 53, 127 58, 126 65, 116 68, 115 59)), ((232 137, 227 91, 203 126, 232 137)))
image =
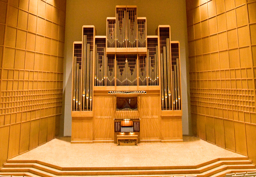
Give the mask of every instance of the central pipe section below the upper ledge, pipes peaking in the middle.
POLYGON ((137 86, 137 55, 117 55, 117 86, 137 86))

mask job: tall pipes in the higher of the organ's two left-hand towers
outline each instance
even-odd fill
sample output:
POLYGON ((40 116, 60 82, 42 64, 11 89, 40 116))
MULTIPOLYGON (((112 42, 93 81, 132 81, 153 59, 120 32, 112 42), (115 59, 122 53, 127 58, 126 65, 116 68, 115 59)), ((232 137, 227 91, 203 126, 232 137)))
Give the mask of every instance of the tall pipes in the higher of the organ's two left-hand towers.
POLYGON ((83 36, 83 78, 82 99, 83 110, 92 110, 92 61, 93 61, 93 29, 85 29, 83 36))

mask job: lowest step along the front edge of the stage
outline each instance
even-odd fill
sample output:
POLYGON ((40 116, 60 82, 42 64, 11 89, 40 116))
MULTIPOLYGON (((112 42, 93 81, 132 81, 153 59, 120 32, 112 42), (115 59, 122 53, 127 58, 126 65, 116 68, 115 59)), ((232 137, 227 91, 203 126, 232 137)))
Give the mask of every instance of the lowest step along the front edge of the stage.
POLYGON ((210 170, 201 172, 197 169, 165 169, 165 170, 97 170, 97 171, 60 171, 51 167, 46 167, 40 164, 30 164, 32 167, 4 167, 0 172, 30 172, 38 176, 53 177, 53 176, 127 176, 127 175, 171 175, 181 176, 183 174, 197 174, 198 177, 209 177, 227 169, 251 169, 255 168, 252 164, 239 165, 221 165, 210 170))

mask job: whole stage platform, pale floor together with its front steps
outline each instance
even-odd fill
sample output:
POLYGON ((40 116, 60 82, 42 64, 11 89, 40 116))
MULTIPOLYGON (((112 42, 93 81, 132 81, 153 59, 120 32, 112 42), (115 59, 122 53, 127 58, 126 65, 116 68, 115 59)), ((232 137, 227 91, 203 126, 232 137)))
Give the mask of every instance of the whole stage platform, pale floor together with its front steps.
POLYGON ((60 137, 29 152, 9 159, 4 172, 38 176, 224 176, 225 172, 251 171, 248 157, 225 150, 197 137, 183 136, 184 142, 71 144, 60 137), (21 170, 19 170, 21 169, 21 170))

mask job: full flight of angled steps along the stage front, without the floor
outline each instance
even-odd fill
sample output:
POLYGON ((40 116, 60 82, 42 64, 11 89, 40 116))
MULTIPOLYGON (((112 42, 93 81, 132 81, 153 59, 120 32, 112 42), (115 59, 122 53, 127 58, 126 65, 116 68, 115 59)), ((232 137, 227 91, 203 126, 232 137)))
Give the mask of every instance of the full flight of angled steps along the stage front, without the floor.
POLYGON ((225 177, 229 172, 256 171, 247 157, 219 158, 197 166, 171 167, 58 167, 39 161, 8 160, 0 175, 34 177, 168 177, 197 175, 198 177, 225 177))

